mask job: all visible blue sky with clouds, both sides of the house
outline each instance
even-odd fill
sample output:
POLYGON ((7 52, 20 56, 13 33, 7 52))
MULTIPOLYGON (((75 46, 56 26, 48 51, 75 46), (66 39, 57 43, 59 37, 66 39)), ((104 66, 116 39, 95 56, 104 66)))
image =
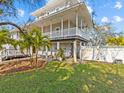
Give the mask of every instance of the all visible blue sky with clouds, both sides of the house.
MULTIPOLYGON (((40 4, 30 11, 25 5, 15 2, 18 17, 11 20, 17 24, 24 24, 29 18, 33 19, 31 12, 43 7, 48 1, 41 0, 40 4)), ((116 32, 124 31, 124 0, 87 0, 86 5, 89 13, 95 11, 98 24, 111 23, 116 32)))

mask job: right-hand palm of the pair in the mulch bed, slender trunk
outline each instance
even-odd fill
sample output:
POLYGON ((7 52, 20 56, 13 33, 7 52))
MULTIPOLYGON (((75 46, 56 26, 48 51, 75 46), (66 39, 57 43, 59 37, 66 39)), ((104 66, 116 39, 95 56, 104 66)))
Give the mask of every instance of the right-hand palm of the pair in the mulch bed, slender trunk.
POLYGON ((50 48, 51 42, 47 36, 42 35, 42 31, 39 27, 34 26, 31 28, 32 30, 29 32, 29 36, 32 37, 32 47, 35 48, 35 57, 36 57, 36 64, 38 60, 38 51, 41 48, 50 48))

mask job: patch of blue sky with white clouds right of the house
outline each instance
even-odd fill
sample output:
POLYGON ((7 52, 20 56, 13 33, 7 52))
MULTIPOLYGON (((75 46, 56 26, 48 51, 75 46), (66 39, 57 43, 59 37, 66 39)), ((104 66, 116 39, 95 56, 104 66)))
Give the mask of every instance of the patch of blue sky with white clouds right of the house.
POLYGON ((111 23, 117 32, 124 32, 124 0, 94 0, 95 4, 91 1, 87 5, 90 12, 95 10, 98 23, 111 23))

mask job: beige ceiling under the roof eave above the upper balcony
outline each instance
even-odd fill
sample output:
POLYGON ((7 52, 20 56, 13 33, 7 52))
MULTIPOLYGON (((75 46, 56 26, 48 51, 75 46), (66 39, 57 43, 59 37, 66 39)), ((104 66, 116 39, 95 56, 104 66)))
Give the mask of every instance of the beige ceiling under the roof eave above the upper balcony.
POLYGON ((92 27, 91 17, 90 17, 90 14, 84 4, 78 5, 74 8, 67 9, 67 10, 64 10, 61 12, 54 13, 45 18, 41 18, 41 19, 37 20, 35 22, 35 24, 37 24, 39 26, 41 26, 41 25, 48 26, 50 24, 50 22, 52 22, 53 24, 57 23, 57 22, 59 23, 62 18, 64 20, 67 20, 69 18, 73 23, 75 23, 76 12, 79 13, 79 20, 81 20, 81 18, 82 18, 85 25, 88 26, 89 28, 91 28, 92 27))

